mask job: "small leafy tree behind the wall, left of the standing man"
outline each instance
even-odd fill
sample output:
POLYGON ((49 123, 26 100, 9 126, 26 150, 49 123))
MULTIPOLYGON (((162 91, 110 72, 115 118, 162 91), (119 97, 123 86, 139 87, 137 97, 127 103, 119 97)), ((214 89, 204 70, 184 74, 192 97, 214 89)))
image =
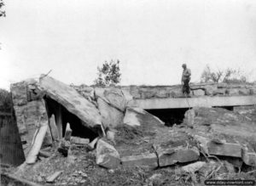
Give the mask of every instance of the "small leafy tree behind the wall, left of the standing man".
POLYGON ((97 78, 94 81, 96 86, 105 87, 116 85, 120 82, 119 59, 115 62, 113 59, 110 62, 105 61, 102 67, 97 67, 97 78))

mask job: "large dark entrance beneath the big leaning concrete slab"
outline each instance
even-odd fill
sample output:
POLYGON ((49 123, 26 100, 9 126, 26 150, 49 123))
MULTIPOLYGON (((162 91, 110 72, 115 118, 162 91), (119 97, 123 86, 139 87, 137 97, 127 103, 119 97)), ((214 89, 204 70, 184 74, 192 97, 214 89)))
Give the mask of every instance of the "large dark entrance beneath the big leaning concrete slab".
POLYGON ((70 124, 70 128, 72 129, 72 136, 79 138, 89 138, 90 141, 98 137, 96 132, 82 124, 83 121, 81 121, 78 116, 73 115, 54 99, 46 97, 44 100, 49 118, 50 116, 54 115, 56 126, 58 127, 61 125, 61 127, 58 128, 61 131, 62 137, 64 137, 67 123, 70 124))

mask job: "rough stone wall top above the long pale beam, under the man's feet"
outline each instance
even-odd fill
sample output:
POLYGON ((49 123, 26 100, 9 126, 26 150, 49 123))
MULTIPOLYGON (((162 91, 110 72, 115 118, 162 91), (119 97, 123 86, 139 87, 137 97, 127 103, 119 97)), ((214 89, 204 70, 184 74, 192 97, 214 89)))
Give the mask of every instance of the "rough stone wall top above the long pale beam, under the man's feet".
MULTIPOLYGON (((93 87, 73 86, 84 98, 93 99, 93 87)), ((116 87, 131 94, 133 99, 166 99, 183 97, 181 85, 176 86, 122 86, 116 87)), ((193 96, 239 96, 256 94, 255 84, 200 83, 190 84, 193 96)))

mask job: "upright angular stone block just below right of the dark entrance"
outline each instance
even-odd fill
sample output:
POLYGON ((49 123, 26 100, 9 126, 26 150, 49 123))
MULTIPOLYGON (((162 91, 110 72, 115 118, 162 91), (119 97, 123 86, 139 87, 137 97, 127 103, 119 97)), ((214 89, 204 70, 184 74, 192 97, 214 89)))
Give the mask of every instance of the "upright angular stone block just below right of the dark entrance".
POLYGON ((96 144, 96 164, 114 169, 120 165, 120 162, 118 151, 111 144, 99 139, 96 144))

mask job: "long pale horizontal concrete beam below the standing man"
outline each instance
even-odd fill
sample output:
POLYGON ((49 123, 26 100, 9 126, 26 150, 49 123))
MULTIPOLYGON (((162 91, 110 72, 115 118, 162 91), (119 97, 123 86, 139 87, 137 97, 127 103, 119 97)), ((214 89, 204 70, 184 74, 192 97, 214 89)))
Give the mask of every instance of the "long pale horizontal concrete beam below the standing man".
POLYGON ((232 96, 232 97, 197 97, 178 99, 133 99, 128 106, 139 107, 144 110, 152 109, 178 109, 189 107, 212 106, 238 106, 256 104, 256 96, 232 96))

